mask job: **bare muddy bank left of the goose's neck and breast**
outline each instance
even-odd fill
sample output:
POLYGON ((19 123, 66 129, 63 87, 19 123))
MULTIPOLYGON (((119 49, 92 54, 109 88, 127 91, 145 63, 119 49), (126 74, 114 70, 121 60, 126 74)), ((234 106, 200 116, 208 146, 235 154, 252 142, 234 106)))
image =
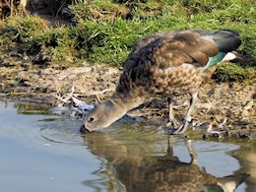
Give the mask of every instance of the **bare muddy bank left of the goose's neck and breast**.
POLYGON ((74 86, 74 96, 90 101, 109 96, 115 89, 120 71, 104 65, 47 67, 23 59, 0 56, 0 93, 2 96, 65 97, 74 86))

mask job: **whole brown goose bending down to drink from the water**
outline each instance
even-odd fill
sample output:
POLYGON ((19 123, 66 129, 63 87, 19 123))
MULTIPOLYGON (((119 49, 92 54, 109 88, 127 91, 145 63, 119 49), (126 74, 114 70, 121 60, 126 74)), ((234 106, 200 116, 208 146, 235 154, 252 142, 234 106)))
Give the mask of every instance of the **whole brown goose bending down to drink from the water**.
MULTIPOLYGON (((191 120, 198 90, 211 78, 216 64, 234 58, 240 44, 233 31, 157 32, 137 43, 123 66, 115 93, 96 105, 81 131, 109 126, 128 110, 153 97, 191 95, 189 110, 173 134, 183 133, 191 120), (231 58, 230 58, 231 55, 231 58)), ((169 120, 177 125, 169 104, 169 120)))

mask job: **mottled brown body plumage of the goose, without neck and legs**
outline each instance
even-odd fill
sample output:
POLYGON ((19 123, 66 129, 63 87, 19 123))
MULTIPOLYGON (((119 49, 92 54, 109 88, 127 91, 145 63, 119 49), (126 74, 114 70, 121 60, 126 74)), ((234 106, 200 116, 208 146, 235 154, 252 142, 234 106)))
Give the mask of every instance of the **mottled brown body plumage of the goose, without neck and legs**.
POLYGON ((225 31, 154 33, 139 41, 128 56, 117 95, 149 99, 193 94, 216 70, 216 66, 204 69, 209 58, 235 50, 239 44, 235 34, 225 31))

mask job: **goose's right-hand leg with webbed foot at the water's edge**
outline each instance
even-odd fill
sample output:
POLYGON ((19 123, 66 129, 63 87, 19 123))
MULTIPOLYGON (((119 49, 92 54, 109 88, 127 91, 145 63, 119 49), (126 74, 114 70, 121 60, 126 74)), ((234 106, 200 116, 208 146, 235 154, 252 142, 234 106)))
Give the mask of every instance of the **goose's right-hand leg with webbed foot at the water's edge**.
POLYGON ((174 130, 172 132, 172 134, 183 134, 186 131, 189 122, 192 120, 191 114, 192 114, 192 112, 193 112, 193 110, 195 108, 195 104, 196 104, 197 99, 198 99, 197 95, 198 95, 198 93, 193 94, 191 96, 190 105, 189 105, 187 114, 184 117, 183 123, 182 123, 182 125, 178 129, 174 130))

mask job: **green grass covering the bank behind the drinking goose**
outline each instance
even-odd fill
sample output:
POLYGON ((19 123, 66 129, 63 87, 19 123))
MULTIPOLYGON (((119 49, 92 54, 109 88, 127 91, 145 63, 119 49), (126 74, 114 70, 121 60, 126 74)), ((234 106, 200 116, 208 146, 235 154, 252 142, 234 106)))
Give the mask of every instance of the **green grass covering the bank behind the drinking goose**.
MULTIPOLYGON (((240 32, 238 52, 256 60, 254 0, 93 0, 70 6, 74 25, 49 28, 35 16, 0 22, 0 50, 35 56, 49 54, 51 63, 73 65, 87 60, 121 66, 134 43, 152 32, 185 29, 232 29, 240 32)), ((221 80, 250 78, 249 67, 224 63, 221 80), (226 75, 226 76, 225 76, 226 75)))

